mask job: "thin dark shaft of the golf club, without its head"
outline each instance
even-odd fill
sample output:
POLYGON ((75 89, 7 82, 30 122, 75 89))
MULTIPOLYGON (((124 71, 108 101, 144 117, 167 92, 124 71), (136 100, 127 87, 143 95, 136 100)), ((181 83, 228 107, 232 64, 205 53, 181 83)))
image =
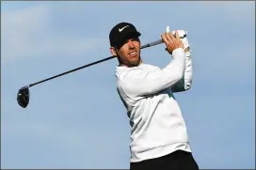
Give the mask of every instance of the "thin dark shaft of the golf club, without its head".
MULTIPOLYGON (((151 43, 145 44, 145 45, 141 46, 140 49, 144 49, 144 48, 147 48, 147 47, 152 47, 152 46, 157 45, 157 44, 160 44, 160 43, 163 43, 163 40, 162 40, 162 39, 159 39, 159 40, 153 41, 153 42, 151 42, 151 43)), ((87 65, 85 65, 85 66, 82 66, 82 67, 79 67, 79 68, 76 68, 76 69, 73 69, 73 70, 69 70, 69 71, 66 71, 66 72, 57 74, 57 75, 55 75, 55 76, 53 76, 53 77, 50 77, 50 78, 41 80, 40 82, 37 82, 37 83, 34 83, 34 84, 30 84, 30 85, 27 85, 27 86, 28 86, 28 87, 31 87, 31 86, 33 86, 33 85, 39 85, 39 84, 41 84, 41 83, 43 83, 43 82, 46 82, 46 81, 55 79, 56 77, 60 77, 60 76, 62 76, 62 75, 71 73, 71 72, 76 71, 76 70, 81 70, 81 69, 88 68, 89 66, 92 66, 92 65, 95 65, 95 64, 98 64, 98 63, 102 63, 102 62, 104 62, 104 61, 106 61, 106 60, 110 60, 110 59, 115 58, 115 57, 116 57, 115 55, 109 56, 109 57, 106 57, 106 58, 104 58, 104 59, 101 59, 101 60, 98 60, 98 61, 89 63, 89 64, 87 64, 87 65)))

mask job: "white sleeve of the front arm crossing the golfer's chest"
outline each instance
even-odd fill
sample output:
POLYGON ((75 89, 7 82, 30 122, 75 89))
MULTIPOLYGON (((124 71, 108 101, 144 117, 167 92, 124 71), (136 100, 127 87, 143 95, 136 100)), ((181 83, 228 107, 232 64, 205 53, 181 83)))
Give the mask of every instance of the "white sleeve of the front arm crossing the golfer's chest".
POLYGON ((175 85, 184 77, 184 49, 172 53, 173 59, 162 70, 142 70, 139 67, 124 71, 120 79, 123 92, 130 97, 143 97, 175 85))

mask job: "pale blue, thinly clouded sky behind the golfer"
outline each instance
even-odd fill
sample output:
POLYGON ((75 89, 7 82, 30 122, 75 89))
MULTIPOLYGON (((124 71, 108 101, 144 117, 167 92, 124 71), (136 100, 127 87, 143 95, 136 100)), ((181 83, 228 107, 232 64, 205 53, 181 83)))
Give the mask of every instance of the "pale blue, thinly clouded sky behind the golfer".
MULTIPOLYGON (((201 169, 255 168, 255 2, 1 1, 1 167, 129 168, 129 119, 116 59, 24 86, 110 56, 108 35, 136 25, 141 43, 166 26, 188 33, 193 84, 174 96, 201 169)), ((165 45, 143 49, 164 68, 165 45)))

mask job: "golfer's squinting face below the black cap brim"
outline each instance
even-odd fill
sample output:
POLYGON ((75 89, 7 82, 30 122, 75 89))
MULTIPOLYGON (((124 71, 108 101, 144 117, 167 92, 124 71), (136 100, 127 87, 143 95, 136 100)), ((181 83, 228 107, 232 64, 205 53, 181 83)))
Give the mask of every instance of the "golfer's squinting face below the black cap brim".
POLYGON ((135 67, 142 62, 140 59, 140 41, 138 38, 128 38, 120 49, 115 49, 115 53, 119 56, 120 64, 122 65, 135 67))

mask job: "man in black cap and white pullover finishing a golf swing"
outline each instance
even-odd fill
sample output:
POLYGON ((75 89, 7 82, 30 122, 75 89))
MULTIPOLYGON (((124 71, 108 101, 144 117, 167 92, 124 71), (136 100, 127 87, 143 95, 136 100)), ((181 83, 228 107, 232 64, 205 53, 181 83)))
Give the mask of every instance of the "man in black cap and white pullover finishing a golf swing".
POLYGON ((130 169, 199 169, 181 109, 173 96, 174 92, 191 87, 189 47, 184 50, 178 31, 175 36, 162 34, 168 55, 173 58, 159 69, 143 63, 140 35, 132 23, 119 23, 109 34, 110 52, 120 62, 117 89, 132 127, 130 169))

